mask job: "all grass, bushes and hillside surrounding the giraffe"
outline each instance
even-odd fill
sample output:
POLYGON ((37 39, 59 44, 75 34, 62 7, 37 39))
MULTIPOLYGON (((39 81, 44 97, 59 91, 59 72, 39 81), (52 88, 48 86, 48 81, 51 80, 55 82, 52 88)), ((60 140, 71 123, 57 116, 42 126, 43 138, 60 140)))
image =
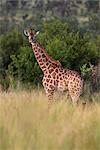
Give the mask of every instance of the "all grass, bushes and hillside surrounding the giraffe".
POLYGON ((0 0, 0 150, 100 150, 99 102, 100 0, 0 0), (58 93, 48 112, 28 27, 40 30, 52 58, 84 78, 85 107, 58 93))

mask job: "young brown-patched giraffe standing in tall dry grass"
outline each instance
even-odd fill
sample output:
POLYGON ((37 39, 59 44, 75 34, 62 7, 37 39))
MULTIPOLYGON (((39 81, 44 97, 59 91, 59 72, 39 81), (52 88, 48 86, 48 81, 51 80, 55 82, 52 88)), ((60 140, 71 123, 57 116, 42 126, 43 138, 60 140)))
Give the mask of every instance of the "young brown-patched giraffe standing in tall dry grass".
POLYGON ((55 90, 68 91, 72 102, 77 103, 83 88, 83 80, 78 72, 62 68, 59 61, 54 61, 48 56, 45 49, 36 41, 36 35, 32 29, 24 30, 32 45, 37 62, 44 73, 43 86, 48 96, 48 105, 53 102, 55 90))

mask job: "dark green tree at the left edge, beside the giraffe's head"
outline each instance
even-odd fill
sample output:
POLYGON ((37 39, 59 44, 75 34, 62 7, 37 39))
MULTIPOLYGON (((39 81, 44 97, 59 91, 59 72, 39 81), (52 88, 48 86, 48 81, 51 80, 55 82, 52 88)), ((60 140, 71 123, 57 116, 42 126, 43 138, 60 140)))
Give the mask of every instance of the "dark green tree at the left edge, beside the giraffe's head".
POLYGON ((0 82, 5 81, 11 55, 17 55, 24 45, 23 35, 18 30, 10 31, 0 37, 0 82))

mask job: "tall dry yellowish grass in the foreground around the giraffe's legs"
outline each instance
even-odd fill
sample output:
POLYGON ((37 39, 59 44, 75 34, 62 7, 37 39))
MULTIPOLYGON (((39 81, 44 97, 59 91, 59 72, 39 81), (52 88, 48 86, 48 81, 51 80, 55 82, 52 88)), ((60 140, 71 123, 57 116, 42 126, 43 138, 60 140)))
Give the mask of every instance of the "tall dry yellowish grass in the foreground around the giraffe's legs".
POLYGON ((100 103, 62 96, 48 111, 42 91, 1 93, 0 150, 100 150, 100 103))

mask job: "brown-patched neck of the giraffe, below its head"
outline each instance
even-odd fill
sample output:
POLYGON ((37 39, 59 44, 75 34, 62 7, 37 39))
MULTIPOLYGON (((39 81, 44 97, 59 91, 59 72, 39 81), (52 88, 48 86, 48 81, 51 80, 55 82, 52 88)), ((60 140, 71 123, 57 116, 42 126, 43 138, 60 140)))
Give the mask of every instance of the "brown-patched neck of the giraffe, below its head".
POLYGON ((60 62, 53 60, 39 43, 32 43, 32 49, 43 72, 45 72, 49 66, 61 66, 60 62))

